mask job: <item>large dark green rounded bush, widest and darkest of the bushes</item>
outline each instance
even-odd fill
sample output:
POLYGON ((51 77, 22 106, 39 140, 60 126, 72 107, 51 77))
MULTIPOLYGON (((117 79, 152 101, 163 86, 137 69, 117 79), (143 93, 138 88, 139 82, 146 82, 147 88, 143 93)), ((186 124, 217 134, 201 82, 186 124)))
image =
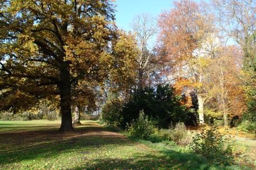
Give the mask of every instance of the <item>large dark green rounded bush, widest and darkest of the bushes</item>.
POLYGON ((181 105, 181 99, 182 96, 175 95, 175 89, 170 85, 135 90, 122 110, 124 119, 121 126, 125 127, 126 122, 137 119, 141 110, 160 128, 168 128, 170 122, 185 122, 188 110, 181 105))

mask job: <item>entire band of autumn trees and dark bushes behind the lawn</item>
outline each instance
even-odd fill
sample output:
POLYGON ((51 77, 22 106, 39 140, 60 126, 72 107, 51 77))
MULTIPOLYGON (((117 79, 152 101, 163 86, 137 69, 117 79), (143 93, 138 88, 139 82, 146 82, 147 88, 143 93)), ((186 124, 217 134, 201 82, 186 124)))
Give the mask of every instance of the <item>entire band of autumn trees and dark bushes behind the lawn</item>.
POLYGON ((128 33, 114 6, 1 1, 0 118, 60 114, 66 131, 84 114, 125 128, 143 111, 160 128, 255 132, 255 2, 175 1, 136 16, 128 33))

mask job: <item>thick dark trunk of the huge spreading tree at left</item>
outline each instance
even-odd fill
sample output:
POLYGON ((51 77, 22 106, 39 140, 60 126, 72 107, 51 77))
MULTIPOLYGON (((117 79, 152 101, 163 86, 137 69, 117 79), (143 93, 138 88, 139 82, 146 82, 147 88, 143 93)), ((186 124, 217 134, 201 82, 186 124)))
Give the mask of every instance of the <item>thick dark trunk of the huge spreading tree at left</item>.
POLYGON ((60 96, 61 96, 61 127, 60 131, 71 131, 72 126, 72 114, 71 114, 71 82, 70 82, 70 69, 67 62, 63 62, 61 65, 60 73, 60 96))

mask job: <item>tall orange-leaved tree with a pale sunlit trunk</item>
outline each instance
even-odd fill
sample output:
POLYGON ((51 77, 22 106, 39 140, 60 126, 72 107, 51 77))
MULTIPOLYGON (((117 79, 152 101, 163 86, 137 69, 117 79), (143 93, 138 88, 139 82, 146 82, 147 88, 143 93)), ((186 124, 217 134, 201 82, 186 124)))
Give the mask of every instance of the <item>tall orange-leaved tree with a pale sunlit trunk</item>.
POLYGON ((195 51, 200 51, 207 38, 214 35, 213 16, 204 10, 203 4, 200 6, 190 0, 175 1, 174 5, 170 12, 162 13, 159 19, 159 51, 168 63, 165 70, 169 78, 188 92, 191 89, 195 91, 199 102, 199 121, 202 124, 207 97, 204 86, 207 59, 195 51))

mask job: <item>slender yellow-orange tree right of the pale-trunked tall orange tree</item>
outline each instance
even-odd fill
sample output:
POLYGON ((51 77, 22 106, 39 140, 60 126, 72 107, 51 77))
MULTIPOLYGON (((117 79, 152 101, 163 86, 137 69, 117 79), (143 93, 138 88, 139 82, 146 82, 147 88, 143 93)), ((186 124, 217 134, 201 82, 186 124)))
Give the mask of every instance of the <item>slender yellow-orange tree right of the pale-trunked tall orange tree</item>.
MULTIPOLYGON (((221 43, 223 44, 223 43, 221 43)), ((228 115, 240 115, 243 104, 243 90, 239 74, 242 51, 237 45, 218 45, 209 60, 210 101, 206 103, 214 112, 223 114, 224 126, 228 126, 228 115)))

